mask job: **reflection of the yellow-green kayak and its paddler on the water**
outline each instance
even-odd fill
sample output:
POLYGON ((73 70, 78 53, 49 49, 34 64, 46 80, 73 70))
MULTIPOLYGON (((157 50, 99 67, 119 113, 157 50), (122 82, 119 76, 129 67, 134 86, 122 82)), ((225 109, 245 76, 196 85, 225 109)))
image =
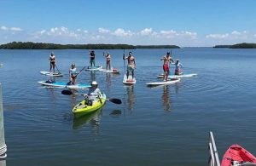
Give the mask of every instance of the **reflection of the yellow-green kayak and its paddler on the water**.
POLYGON ((102 117, 102 108, 96 112, 86 114, 82 117, 73 118, 73 129, 81 129, 90 123, 91 129, 95 135, 100 133, 100 119, 102 117))

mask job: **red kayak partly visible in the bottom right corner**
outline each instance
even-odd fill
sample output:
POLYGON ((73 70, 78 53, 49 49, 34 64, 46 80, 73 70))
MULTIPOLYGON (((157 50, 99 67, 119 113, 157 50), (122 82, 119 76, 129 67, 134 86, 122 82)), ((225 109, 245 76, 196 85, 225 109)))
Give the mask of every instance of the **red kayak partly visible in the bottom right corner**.
POLYGON ((232 145, 224 153, 221 166, 256 165, 256 157, 239 145, 232 145), (253 164, 254 163, 254 164, 253 164))

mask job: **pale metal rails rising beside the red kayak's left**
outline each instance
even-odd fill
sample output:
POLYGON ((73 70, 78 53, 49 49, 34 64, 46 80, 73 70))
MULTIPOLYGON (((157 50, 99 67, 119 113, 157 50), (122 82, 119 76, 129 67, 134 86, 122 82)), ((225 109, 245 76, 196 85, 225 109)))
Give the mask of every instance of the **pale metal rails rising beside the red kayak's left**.
POLYGON ((217 147, 215 144, 215 140, 212 134, 212 131, 210 131, 210 140, 209 140, 209 152, 210 157, 208 160, 209 166, 220 166, 219 159, 218 159, 218 152, 217 147))

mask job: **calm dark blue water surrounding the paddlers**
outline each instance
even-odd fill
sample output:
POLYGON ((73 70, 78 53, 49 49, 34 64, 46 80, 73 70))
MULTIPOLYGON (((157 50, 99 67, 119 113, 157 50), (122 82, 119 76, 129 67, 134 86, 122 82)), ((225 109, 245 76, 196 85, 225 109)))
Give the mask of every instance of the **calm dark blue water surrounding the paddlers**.
MULTIPOLYGON (((105 66, 103 50, 96 65, 105 66)), ((49 77, 50 50, 0 50, 7 165, 207 165, 209 131, 220 159, 231 144, 256 154, 256 49, 172 49, 183 63, 183 78, 173 85, 148 88, 162 72, 167 49, 132 50, 137 84, 124 86, 123 50, 105 50, 120 75, 82 72, 79 83, 96 79, 108 98, 102 111, 73 118, 81 95, 63 95, 38 81, 49 77)), ((130 50, 125 50, 127 54, 130 50)), ((88 66, 88 50, 54 50, 68 81, 72 62, 88 66)), ((172 67, 173 72, 173 67, 172 67)), ((79 93, 86 93, 80 90, 79 93)))

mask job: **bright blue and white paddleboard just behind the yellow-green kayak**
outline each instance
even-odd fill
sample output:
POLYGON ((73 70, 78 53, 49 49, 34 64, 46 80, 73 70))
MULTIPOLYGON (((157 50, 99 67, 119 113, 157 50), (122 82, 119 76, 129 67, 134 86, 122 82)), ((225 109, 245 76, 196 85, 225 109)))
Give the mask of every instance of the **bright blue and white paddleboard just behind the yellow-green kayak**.
POLYGON ((88 89, 90 84, 78 83, 75 85, 69 85, 66 82, 55 82, 55 81, 39 81, 38 83, 49 86, 49 87, 58 87, 58 88, 67 88, 67 89, 88 89))

